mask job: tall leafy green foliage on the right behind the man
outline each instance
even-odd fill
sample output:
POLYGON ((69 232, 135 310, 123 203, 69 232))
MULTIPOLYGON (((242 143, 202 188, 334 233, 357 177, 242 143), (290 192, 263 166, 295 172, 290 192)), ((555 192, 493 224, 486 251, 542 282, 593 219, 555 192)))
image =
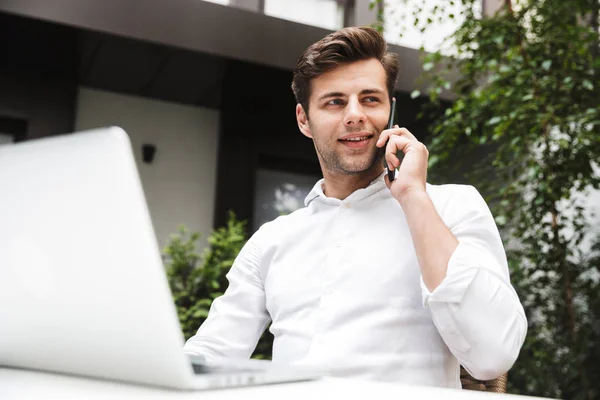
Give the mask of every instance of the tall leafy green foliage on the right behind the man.
POLYGON ((407 10, 423 31, 462 21, 450 50, 423 58, 431 104, 443 110, 431 127, 431 175, 479 159, 468 180, 503 228, 529 320, 510 391, 600 397, 600 260, 585 206, 600 189, 600 3, 504 0, 485 17, 478 3, 407 10), (444 92, 454 96, 449 105, 444 92))

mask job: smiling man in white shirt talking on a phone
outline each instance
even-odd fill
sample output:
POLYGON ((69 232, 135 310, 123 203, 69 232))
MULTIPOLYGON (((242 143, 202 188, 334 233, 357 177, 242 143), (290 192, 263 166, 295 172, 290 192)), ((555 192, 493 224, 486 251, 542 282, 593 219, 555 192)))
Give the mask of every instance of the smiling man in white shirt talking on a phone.
POLYGON ((386 51, 346 28, 298 61, 296 118, 324 179, 250 238, 186 352, 248 358, 272 321, 273 362, 343 376, 460 387, 461 364, 487 380, 514 363, 527 324, 493 217, 475 188, 427 184, 425 146, 386 129, 386 51))

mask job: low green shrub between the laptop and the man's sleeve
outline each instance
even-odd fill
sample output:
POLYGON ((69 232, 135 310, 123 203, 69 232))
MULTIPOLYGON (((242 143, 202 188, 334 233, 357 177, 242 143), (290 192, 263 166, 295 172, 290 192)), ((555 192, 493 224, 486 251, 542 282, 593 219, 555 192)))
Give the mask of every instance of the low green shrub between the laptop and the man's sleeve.
MULTIPOLYGON (((227 288, 225 275, 247 240, 246 222, 238 221, 230 213, 227 226, 209 236, 202 256, 196 252, 199 239, 199 233, 190 234, 185 226, 180 226, 163 250, 169 285, 186 340, 206 320, 212 301, 227 288)), ((254 357, 270 358, 271 342, 272 335, 267 331, 254 357)))

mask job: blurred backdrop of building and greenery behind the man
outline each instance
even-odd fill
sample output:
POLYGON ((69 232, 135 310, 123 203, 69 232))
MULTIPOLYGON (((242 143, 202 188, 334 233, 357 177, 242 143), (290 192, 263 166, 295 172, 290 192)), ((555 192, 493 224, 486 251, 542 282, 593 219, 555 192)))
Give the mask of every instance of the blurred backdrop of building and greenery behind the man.
POLYGON ((400 57, 396 121, 430 148, 430 181, 475 185, 501 230, 529 320, 509 391, 598 398, 599 9, 1 0, 0 145, 109 125, 129 133, 189 336, 248 235, 302 207, 321 178, 295 121, 296 61, 333 30, 372 25, 400 57), (196 279, 178 284, 190 271, 196 279))

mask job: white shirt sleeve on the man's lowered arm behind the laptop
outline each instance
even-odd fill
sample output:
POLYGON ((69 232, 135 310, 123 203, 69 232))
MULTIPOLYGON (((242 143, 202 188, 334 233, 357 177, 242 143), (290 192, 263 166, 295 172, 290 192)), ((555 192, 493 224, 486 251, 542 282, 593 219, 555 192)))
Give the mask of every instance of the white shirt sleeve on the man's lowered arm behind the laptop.
POLYGON ((250 238, 236 257, 227 274, 227 290, 213 301, 208 318, 186 342, 186 354, 203 356, 207 361, 248 359, 252 355, 270 322, 256 236, 250 238))

